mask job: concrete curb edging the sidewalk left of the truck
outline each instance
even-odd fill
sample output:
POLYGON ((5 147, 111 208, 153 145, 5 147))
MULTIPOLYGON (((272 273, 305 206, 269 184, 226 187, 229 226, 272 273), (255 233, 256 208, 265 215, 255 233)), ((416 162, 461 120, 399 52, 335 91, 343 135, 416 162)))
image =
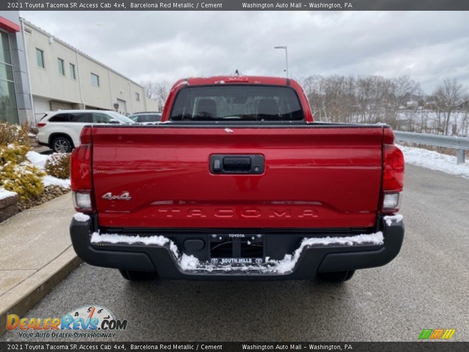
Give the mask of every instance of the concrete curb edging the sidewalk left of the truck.
POLYGON ((0 335, 6 331, 8 314, 22 316, 81 263, 70 245, 52 262, 5 293, 0 302, 0 335))

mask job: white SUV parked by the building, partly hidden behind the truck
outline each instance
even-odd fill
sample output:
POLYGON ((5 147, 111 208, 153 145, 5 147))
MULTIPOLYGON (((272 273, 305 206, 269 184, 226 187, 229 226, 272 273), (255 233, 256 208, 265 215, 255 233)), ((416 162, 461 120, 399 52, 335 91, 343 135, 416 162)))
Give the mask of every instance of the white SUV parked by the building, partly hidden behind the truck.
POLYGON ((80 144, 80 133, 92 124, 134 124, 133 120, 107 110, 58 110, 44 112, 38 122, 38 143, 56 153, 70 153, 80 144))

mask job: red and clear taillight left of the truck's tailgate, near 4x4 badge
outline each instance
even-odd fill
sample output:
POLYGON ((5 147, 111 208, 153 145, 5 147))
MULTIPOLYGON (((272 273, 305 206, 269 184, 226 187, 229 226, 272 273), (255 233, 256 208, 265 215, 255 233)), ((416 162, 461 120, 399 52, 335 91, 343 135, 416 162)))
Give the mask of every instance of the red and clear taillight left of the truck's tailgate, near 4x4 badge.
POLYGON ((81 144, 72 152, 70 180, 75 210, 93 212, 93 183, 91 178, 91 144, 81 144))

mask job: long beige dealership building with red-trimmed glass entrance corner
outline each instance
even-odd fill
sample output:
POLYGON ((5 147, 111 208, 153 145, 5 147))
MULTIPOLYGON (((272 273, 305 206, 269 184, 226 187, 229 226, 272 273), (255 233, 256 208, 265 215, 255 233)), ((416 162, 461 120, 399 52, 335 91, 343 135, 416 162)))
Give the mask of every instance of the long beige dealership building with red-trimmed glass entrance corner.
POLYGON ((0 12, 0 122, 35 123, 44 111, 156 111, 145 89, 20 18, 0 12))

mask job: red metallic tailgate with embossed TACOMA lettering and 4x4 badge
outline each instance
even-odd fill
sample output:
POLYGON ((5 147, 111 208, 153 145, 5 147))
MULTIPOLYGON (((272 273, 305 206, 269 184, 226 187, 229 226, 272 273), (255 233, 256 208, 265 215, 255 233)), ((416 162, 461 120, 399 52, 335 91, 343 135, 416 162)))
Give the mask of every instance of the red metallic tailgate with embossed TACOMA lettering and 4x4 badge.
POLYGON ((382 143, 381 126, 93 127, 99 223, 371 227, 380 197, 382 143), (214 174, 213 154, 261 155, 265 169, 258 175, 214 174), (126 192, 128 198, 112 199, 126 192))

